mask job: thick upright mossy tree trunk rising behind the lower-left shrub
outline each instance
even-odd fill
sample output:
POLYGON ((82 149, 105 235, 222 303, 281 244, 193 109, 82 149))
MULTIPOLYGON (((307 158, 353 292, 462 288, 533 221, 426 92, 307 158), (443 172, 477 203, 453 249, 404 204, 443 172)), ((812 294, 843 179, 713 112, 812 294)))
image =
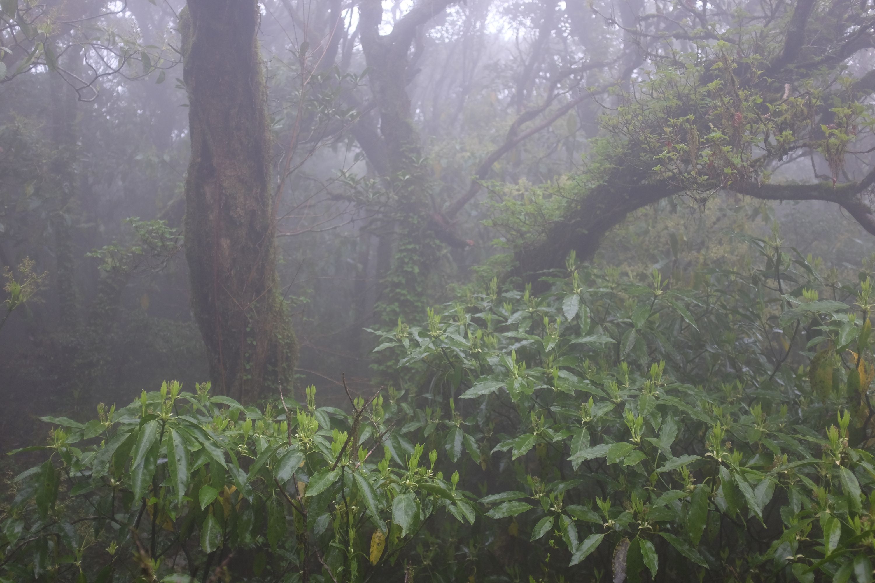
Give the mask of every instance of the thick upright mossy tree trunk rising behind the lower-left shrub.
POLYGON ((289 387, 297 354, 276 275, 275 193, 255 0, 188 0, 180 17, 192 157, 185 246, 214 390, 289 387))

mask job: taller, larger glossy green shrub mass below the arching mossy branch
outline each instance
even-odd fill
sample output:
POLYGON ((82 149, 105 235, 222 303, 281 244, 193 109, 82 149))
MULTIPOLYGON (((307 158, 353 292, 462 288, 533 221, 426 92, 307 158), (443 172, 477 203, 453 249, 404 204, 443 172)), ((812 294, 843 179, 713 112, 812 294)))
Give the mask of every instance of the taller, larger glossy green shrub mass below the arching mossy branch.
POLYGON ((493 284, 383 336, 431 371, 406 428, 488 484, 494 520, 460 538, 489 547, 477 573, 869 580, 871 279, 746 239, 756 266, 689 288, 572 256, 545 295, 493 284), (803 365, 816 346, 828 390, 803 365), (517 537, 526 556, 504 554, 517 537))

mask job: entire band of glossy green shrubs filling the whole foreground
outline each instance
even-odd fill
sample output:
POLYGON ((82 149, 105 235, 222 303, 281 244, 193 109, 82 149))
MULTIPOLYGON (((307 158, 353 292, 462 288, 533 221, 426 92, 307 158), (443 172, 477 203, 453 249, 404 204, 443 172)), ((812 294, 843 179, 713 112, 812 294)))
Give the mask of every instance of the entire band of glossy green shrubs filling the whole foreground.
POLYGON ((408 380, 346 411, 167 383, 44 418, 0 580, 868 583, 872 273, 746 240, 493 281, 378 332, 408 380))

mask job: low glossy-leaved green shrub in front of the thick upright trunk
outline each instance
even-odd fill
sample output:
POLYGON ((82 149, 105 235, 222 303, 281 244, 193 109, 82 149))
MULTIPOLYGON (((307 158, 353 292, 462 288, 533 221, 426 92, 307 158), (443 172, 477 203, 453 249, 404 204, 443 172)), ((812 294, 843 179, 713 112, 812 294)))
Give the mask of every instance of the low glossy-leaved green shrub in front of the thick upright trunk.
POLYGON ((397 406, 381 396, 349 415, 317 407, 310 387, 287 415, 197 388, 165 383, 87 423, 43 418, 58 426, 48 444, 13 452, 48 455, 15 478, 0 580, 207 579, 234 553, 254 557, 246 574, 274 580, 311 549, 325 578, 361 580, 391 569, 437 512, 474 520, 472 496, 444 481, 436 452, 425 462, 392 431, 397 406), (376 560, 374 531, 388 533, 376 560))

